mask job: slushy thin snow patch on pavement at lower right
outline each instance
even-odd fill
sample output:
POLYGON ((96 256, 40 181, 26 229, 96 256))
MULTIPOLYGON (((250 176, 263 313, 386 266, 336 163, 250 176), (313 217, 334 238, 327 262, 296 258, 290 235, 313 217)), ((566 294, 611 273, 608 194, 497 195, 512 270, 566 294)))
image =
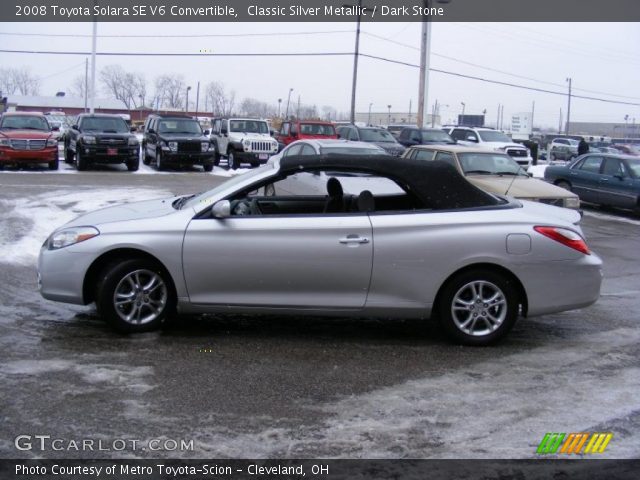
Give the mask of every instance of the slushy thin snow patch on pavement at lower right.
MULTIPOLYGON (((195 439, 206 455, 223 457, 535 458, 548 431, 607 431, 638 411, 640 369, 620 362, 639 341, 628 328, 592 335, 588 350, 567 339, 562 348, 514 354, 513 362, 484 361, 310 407, 330 415, 321 426, 208 430, 195 439)), ((640 454, 640 432, 623 430, 615 440, 602 457, 640 454)))

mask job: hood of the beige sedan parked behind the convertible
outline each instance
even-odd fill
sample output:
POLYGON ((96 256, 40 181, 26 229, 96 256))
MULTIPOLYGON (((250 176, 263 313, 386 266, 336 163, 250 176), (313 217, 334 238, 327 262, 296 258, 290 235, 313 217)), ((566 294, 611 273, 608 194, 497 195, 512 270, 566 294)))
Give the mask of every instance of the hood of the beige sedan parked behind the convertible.
POLYGON ((476 187, 487 192, 510 195, 516 198, 569 198, 575 197, 564 188, 556 187, 542 180, 531 177, 514 177, 499 175, 467 175, 476 187))

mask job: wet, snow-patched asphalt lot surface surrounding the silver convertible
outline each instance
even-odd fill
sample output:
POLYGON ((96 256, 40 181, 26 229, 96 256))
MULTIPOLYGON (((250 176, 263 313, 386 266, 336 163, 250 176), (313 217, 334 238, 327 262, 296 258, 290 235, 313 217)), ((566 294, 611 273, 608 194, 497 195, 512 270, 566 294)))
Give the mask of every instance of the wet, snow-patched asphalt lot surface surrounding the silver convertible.
POLYGON ((495 347, 452 346, 430 322, 303 316, 188 317, 126 337, 92 306, 40 297, 40 244, 84 211, 202 191, 226 171, 66 168, 0 173, 6 458, 159 456, 17 451, 18 435, 193 439, 193 451, 174 455, 194 458, 529 458, 550 431, 611 431, 605 456, 640 454, 640 219, 631 214, 583 218, 605 262, 594 306, 521 320, 495 347))

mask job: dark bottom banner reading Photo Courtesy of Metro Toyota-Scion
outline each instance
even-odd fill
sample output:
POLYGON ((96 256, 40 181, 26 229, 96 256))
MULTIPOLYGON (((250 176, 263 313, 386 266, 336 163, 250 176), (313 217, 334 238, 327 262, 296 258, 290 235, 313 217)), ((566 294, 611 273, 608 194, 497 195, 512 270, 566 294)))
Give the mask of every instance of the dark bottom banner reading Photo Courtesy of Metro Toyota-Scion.
POLYGON ((0 478, 635 480, 640 460, 0 460, 0 478))

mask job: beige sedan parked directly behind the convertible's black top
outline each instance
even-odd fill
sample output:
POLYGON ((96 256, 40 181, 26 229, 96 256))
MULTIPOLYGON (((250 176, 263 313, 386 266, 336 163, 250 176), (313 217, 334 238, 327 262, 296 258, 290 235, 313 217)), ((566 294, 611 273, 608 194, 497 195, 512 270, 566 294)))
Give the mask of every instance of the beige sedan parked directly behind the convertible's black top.
POLYGON ((575 193, 532 178, 506 153, 460 145, 416 145, 409 148, 404 157, 446 162, 487 192, 557 207, 580 208, 580 199, 575 193))

